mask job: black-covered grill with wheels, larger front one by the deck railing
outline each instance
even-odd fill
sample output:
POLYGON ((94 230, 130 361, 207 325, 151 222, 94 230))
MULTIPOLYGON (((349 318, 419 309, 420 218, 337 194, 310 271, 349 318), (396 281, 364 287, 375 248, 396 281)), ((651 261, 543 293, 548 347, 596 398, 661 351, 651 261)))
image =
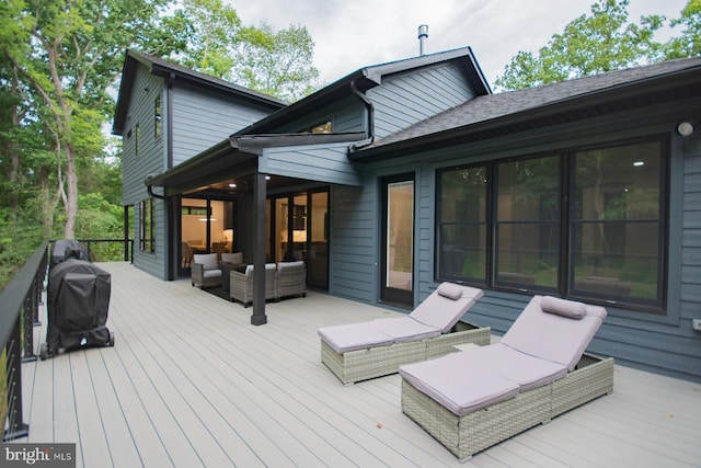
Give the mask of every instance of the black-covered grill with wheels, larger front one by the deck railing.
POLYGON ((49 350, 108 341, 111 289, 110 273, 90 262, 68 259, 56 264, 48 277, 49 350))

